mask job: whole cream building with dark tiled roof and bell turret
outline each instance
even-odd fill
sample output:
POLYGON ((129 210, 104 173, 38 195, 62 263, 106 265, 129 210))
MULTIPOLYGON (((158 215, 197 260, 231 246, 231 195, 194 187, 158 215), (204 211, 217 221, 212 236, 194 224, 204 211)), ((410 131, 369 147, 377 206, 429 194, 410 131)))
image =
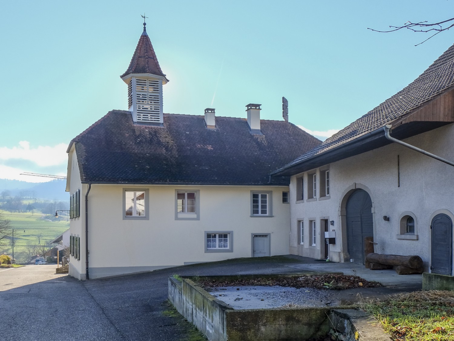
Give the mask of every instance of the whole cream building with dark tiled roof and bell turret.
POLYGON ((164 113, 169 80, 143 25, 121 76, 128 110, 69 143, 69 275, 288 254, 290 177, 270 172, 321 141, 286 117, 261 120, 259 104, 246 118, 164 113))

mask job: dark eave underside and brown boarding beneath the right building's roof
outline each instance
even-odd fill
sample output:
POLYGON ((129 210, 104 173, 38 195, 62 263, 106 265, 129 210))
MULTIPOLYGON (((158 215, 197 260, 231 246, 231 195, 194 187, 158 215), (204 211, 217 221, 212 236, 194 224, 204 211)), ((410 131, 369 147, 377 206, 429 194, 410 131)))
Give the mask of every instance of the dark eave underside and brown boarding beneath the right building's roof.
MULTIPOLYGON (((398 140, 404 140, 453 122, 454 90, 450 88, 389 124, 392 125, 392 136, 398 140)), ((321 152, 310 155, 303 160, 294 161, 271 172, 270 175, 292 176, 389 145, 392 142, 385 137, 384 125, 340 145, 321 150, 321 152)))

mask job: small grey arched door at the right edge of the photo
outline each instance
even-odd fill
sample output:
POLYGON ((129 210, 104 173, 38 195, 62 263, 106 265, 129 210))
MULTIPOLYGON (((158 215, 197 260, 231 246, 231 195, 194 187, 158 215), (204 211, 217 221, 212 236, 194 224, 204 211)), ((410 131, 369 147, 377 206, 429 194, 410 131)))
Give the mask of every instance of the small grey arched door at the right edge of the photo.
POLYGON ((431 266, 433 273, 451 275, 453 222, 449 216, 441 213, 434 216, 430 225, 432 234, 431 266))

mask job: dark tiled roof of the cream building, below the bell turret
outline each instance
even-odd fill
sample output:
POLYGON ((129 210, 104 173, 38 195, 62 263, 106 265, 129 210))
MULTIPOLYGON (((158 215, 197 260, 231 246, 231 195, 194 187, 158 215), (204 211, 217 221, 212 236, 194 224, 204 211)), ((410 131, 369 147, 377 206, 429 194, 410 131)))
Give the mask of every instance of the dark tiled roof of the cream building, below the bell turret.
POLYGON ((133 123, 131 113, 113 110, 75 137, 84 183, 180 185, 283 185, 269 173, 321 143, 285 121, 261 120, 253 135, 247 120, 164 114, 163 126, 133 123))

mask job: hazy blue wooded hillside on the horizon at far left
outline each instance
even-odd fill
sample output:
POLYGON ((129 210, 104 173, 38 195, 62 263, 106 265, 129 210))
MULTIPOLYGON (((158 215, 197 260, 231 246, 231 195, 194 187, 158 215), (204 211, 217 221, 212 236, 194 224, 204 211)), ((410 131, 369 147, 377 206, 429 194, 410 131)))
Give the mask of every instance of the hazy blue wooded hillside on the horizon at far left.
POLYGON ((26 182, 0 179, 0 193, 10 191, 11 196, 27 192, 29 196, 39 199, 68 201, 69 193, 65 192, 66 180, 54 179, 49 182, 26 182))

